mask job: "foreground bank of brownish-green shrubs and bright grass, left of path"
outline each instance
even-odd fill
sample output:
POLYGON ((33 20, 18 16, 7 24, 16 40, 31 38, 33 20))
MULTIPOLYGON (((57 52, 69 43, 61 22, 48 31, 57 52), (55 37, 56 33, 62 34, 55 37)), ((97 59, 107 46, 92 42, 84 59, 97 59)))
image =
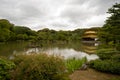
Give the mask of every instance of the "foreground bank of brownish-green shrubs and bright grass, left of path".
POLYGON ((69 80, 69 73, 85 60, 47 54, 17 55, 12 60, 0 57, 0 80, 69 80))

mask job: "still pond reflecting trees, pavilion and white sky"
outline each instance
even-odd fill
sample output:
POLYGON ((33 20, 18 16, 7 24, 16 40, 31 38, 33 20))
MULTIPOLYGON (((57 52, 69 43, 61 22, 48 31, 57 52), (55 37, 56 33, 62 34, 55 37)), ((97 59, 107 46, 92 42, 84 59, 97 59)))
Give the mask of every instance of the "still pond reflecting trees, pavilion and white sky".
POLYGON ((97 59, 95 54, 97 44, 94 42, 7 42, 0 43, 0 56, 12 57, 13 54, 38 54, 47 53, 68 58, 83 58, 88 60, 97 59))

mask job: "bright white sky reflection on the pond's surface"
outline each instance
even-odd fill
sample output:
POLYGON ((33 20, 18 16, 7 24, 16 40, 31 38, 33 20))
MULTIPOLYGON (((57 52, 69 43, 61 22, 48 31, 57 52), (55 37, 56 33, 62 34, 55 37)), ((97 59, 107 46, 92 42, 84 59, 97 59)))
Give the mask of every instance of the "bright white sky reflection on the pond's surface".
POLYGON ((81 59, 83 57, 86 57, 88 60, 94 60, 98 58, 98 56, 95 54, 87 54, 85 52, 75 51, 74 49, 54 48, 54 49, 45 50, 43 52, 48 53, 48 54, 59 55, 59 56, 64 57, 65 59, 68 59, 68 58, 81 59))

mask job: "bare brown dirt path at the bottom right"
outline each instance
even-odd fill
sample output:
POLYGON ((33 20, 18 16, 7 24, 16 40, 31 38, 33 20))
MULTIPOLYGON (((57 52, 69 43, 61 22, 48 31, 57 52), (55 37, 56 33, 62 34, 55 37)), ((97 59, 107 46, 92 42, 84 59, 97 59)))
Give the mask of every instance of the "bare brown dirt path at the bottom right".
POLYGON ((71 80, 115 80, 116 78, 120 80, 120 75, 101 73, 93 69, 77 70, 70 75, 71 80))

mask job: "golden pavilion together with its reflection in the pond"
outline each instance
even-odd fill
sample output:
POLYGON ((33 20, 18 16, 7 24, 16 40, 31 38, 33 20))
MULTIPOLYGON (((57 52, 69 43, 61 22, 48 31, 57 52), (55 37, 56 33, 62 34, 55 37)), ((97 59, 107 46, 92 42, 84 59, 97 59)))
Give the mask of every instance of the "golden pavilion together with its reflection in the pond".
POLYGON ((87 29, 83 36, 82 36, 82 49, 86 53, 95 53, 96 52, 96 46, 98 36, 97 36, 97 30, 95 29, 87 29))

